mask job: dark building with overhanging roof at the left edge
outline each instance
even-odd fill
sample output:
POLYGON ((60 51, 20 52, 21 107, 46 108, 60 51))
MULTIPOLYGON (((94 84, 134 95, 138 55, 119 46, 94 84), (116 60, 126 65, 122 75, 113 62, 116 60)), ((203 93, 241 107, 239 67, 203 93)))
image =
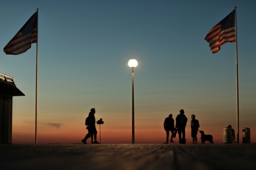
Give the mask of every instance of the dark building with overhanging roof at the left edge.
POLYGON ((0 144, 11 144, 13 96, 25 95, 16 87, 13 77, 0 73, 0 144))

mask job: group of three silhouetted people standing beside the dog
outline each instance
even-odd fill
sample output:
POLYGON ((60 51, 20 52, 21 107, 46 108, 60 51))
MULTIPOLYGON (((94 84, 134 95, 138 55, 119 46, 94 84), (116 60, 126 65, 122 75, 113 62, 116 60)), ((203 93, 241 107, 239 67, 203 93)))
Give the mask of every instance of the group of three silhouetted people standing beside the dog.
MULTIPOLYGON (((176 124, 174 127, 174 120, 172 118, 172 114, 169 114, 167 118, 165 118, 164 123, 163 123, 163 128, 166 131, 166 143, 168 144, 169 141, 169 132, 171 132, 170 136, 170 142, 173 143, 173 138, 176 137, 176 133, 178 133, 178 142, 179 144, 185 144, 186 139, 185 139, 185 127, 186 127, 186 122, 187 118, 184 115, 184 110, 181 109, 179 111, 179 114, 176 117, 176 124)), ((193 144, 197 144, 197 131, 199 128, 199 121, 195 119, 195 115, 191 115, 191 137, 193 144)))

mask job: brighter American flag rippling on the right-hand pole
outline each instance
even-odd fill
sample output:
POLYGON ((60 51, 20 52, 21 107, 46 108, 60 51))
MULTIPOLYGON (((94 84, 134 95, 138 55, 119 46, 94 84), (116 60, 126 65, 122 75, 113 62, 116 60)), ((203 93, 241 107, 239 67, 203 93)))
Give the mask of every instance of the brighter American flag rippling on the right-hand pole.
POLYGON ((236 41, 234 17, 235 9, 211 28, 205 36, 204 39, 209 43, 212 53, 217 53, 220 50, 220 46, 224 43, 236 41))

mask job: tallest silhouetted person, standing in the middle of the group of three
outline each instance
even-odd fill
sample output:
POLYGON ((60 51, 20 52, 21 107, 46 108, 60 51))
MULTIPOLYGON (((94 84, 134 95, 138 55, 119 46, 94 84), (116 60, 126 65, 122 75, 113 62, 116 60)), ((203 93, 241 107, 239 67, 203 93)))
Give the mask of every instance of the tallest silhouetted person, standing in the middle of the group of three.
POLYGON ((180 114, 177 115, 176 117, 176 126, 175 129, 178 129, 178 140, 180 144, 185 144, 185 127, 186 127, 186 122, 187 122, 187 118, 184 115, 184 110, 181 109, 179 111, 180 114), (181 133, 182 133, 182 138, 181 138, 181 133))

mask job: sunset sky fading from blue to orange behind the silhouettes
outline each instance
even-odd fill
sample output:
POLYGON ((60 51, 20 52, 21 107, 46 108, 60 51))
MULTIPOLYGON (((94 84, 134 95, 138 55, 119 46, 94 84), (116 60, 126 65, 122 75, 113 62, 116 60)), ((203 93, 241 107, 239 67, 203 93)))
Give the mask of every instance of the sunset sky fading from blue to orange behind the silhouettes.
MULTIPOLYGON (((81 143, 91 108, 96 120, 104 121, 102 143, 131 143, 129 59, 138 61, 135 143, 163 143, 163 121, 180 109, 188 118, 187 143, 192 143, 191 114, 199 130, 222 143, 229 124, 236 133, 235 43, 212 54, 204 37, 237 6, 239 140, 242 128, 250 128, 255 143, 255 5, 255 0, 5 0, 0 47, 39 8, 38 143, 81 143)), ((25 94, 13 97, 12 143, 34 143, 35 59, 35 43, 23 54, 0 54, 0 72, 14 77, 25 94)))

